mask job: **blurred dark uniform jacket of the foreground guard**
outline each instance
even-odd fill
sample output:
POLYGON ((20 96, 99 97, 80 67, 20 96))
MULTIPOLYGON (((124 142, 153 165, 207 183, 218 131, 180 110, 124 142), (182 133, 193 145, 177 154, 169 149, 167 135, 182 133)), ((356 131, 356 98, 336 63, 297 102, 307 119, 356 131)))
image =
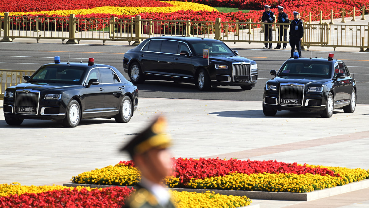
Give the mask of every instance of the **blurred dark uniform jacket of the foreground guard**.
POLYGON ((123 208, 175 208, 175 206, 172 201, 165 206, 160 205, 151 192, 141 187, 131 195, 123 208))

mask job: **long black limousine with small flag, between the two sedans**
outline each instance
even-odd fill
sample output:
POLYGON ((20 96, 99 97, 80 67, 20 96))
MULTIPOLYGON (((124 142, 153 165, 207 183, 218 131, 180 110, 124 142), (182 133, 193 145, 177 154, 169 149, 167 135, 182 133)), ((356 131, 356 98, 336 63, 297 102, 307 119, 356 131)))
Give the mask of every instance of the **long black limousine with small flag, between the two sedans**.
POLYGON ((258 81, 258 66, 237 55, 220 40, 152 37, 124 54, 123 68, 134 84, 169 80, 194 83, 199 90, 220 85, 251 90, 258 81))

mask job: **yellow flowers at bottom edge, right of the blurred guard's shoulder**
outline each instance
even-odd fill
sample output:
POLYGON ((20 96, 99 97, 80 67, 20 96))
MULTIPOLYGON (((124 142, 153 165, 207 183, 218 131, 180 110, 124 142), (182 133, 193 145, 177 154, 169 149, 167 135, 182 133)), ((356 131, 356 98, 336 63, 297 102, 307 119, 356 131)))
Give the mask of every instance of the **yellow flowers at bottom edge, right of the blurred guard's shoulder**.
POLYGON ((214 192, 206 191, 204 193, 187 192, 187 191, 170 191, 175 204, 180 208, 234 208, 245 207, 251 204, 251 199, 246 196, 239 197, 233 195, 220 195, 214 192))

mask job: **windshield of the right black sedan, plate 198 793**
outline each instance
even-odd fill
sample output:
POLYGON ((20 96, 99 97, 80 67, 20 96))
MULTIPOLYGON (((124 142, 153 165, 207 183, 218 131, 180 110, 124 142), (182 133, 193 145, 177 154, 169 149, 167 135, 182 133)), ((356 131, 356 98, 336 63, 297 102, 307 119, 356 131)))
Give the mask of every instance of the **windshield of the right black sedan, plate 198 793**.
POLYGON ((331 64, 316 61, 290 61, 280 68, 279 77, 319 77, 331 78, 331 64))

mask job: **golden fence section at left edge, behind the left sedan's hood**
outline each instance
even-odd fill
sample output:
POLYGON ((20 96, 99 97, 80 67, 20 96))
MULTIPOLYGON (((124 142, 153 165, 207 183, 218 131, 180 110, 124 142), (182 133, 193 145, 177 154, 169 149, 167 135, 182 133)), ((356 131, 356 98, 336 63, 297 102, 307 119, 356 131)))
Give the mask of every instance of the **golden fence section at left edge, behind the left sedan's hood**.
POLYGON ((23 83, 23 77, 33 73, 34 71, 25 70, 0 70, 0 100, 4 99, 6 88, 23 83))

